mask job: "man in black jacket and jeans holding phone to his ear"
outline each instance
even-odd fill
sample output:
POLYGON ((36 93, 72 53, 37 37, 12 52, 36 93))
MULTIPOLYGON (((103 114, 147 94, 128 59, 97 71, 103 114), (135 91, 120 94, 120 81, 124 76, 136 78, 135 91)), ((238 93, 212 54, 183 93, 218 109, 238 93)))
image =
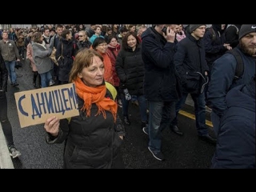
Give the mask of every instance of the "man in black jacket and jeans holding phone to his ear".
POLYGON ((149 106, 149 124, 143 128, 149 134, 148 149, 154 158, 164 159, 161 131, 170 126, 178 101, 178 81, 173 63, 175 33, 164 24, 148 28, 142 34, 142 60, 145 65, 144 94, 149 106))

